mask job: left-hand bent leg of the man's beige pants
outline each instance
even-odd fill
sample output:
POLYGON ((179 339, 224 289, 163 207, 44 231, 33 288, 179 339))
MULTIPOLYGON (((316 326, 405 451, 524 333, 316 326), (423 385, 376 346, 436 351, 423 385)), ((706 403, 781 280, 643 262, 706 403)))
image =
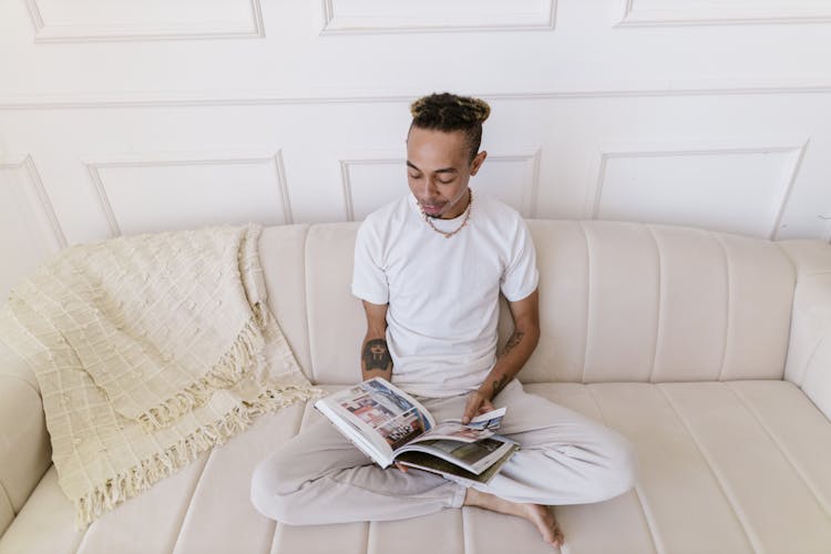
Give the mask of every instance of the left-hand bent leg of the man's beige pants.
POLYGON ((320 420, 260 462, 252 503, 288 524, 414 517, 458 507, 465 489, 420 471, 382 470, 328 420, 320 420))

